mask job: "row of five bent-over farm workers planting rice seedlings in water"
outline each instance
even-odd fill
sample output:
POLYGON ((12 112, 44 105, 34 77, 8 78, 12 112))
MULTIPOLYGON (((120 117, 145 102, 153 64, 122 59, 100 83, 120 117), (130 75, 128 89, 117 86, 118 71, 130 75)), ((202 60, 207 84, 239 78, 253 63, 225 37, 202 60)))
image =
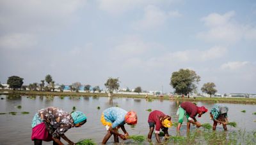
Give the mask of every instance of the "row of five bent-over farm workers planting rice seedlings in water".
MULTIPOLYGON (((201 123, 196 120, 196 116, 200 118, 202 114, 207 113, 207 108, 204 106, 198 107, 192 102, 182 102, 177 110, 179 116, 177 133, 180 132, 180 127, 187 118, 187 132, 189 132, 190 124, 193 123, 196 127, 201 127, 201 123)), ((225 131, 227 131, 227 106, 214 105, 211 109, 210 116, 213 120, 212 130, 216 130, 216 125, 222 124, 225 131)), ((68 144, 74 144, 65 136, 65 132, 72 127, 81 127, 86 123, 86 116, 80 111, 68 113, 57 107, 46 107, 40 109, 32 121, 31 140, 35 145, 42 144, 42 141, 53 141, 53 144, 63 144, 60 139, 64 139, 68 144)), ((114 141, 119 142, 119 137, 123 140, 129 139, 129 134, 125 130, 125 123, 127 125, 136 125, 138 117, 134 111, 125 111, 120 107, 109 107, 105 109, 100 117, 102 125, 106 127, 107 134, 102 140, 102 144, 106 144, 108 139, 113 135, 114 141), (121 128, 124 134, 118 132, 121 128)), ((154 110, 148 115, 148 141, 152 141, 152 134, 155 132, 156 141, 161 143, 159 139, 160 129, 164 132, 164 139, 168 139, 168 128, 172 127, 172 117, 164 114, 159 110, 154 110), (155 130, 154 130, 155 129, 155 130)))

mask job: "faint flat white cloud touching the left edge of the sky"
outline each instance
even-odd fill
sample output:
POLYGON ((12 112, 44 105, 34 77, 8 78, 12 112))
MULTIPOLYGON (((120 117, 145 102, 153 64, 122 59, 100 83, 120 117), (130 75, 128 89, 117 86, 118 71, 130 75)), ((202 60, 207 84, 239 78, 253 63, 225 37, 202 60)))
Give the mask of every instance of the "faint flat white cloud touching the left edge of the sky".
POLYGON ((36 45, 37 41, 33 34, 10 34, 0 38, 0 48, 3 49, 26 49, 36 45))

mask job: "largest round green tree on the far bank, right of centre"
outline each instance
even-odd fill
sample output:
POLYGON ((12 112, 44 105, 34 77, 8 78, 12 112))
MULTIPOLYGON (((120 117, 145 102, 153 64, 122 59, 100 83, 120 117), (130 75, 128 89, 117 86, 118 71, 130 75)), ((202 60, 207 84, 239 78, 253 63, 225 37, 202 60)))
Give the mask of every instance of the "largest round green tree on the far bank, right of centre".
POLYGON ((172 73, 170 85, 175 89, 175 93, 187 95, 196 90, 196 84, 200 81, 200 76, 195 71, 180 69, 172 73))

